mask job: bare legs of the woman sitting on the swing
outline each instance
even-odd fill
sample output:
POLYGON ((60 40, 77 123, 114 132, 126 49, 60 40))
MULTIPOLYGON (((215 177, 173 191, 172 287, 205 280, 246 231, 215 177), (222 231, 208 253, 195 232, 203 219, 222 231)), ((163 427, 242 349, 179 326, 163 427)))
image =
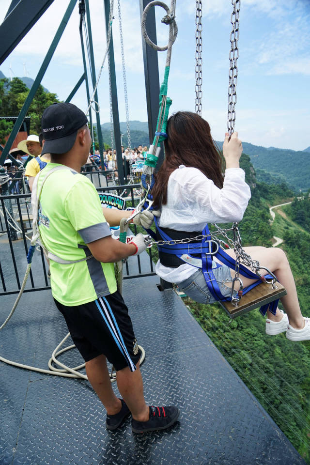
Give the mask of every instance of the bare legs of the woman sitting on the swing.
MULTIPOLYGON (((287 313, 289 324, 295 329, 302 329, 305 325, 305 320, 301 314, 294 277, 290 268, 290 264, 286 258, 285 253, 281 248, 266 248, 266 247, 245 247, 244 250, 250 255, 253 260, 260 262, 261 266, 268 268, 285 287, 287 294, 281 297, 284 310, 287 313)), ((236 258, 233 249, 226 250, 226 253, 236 258)), ((265 275, 267 272, 261 270, 265 275)), ((231 270, 232 277, 234 278, 234 271, 231 270)), ((248 279, 241 276, 244 286, 249 286, 254 282, 253 279, 248 279)), ((229 285, 230 283, 227 283, 229 285)), ((236 281, 235 288, 238 289, 239 283, 236 281)), ((273 315, 268 311, 268 318, 272 321, 279 321, 281 319, 280 312, 273 315)))

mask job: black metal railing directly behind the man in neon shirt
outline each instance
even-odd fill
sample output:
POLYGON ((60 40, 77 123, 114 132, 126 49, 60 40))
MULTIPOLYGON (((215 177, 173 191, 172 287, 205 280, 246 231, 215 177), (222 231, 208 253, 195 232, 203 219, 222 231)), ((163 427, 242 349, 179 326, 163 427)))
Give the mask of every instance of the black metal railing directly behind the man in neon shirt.
MULTIPOLYGON (((97 187, 103 206, 135 207, 140 202, 140 185, 97 187)), ((87 212, 85 212, 87 215, 87 212)), ((27 254, 32 236, 31 194, 0 196, 0 295, 17 294, 27 269, 27 254)), ((117 236, 117 230, 112 230, 117 236)), ((128 234, 137 234, 136 225, 130 225, 128 234), (131 233, 130 233, 131 231, 131 233)), ((146 232, 144 232, 146 234, 146 232)), ((152 249, 124 263, 123 278, 155 275, 152 249)), ((48 262, 43 248, 36 246, 31 271, 24 292, 50 289, 48 262)))

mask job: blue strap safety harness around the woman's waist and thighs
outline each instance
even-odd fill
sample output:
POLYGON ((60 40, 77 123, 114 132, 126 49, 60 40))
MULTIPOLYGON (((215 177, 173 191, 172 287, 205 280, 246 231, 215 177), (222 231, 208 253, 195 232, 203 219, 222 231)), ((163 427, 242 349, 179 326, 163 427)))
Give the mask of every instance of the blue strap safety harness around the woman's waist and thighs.
MULTIPOLYGON (((155 217, 155 224, 156 224, 156 232, 157 232, 157 237, 158 234, 161 238, 161 240, 167 242, 169 241, 169 244, 157 244, 158 247, 158 252, 159 252, 159 260, 160 260, 160 255, 161 253, 164 254, 171 254, 177 256, 180 260, 182 260, 183 263, 188 263, 188 260, 197 260, 197 256, 202 260, 202 273, 205 279, 205 282, 208 286, 208 289, 215 298, 215 300, 221 300, 221 301, 231 301, 232 296, 225 297, 222 295, 217 280, 215 279, 215 276, 213 274, 213 268, 212 268, 212 262, 213 262, 213 257, 216 257, 221 263, 227 265, 229 268, 232 268, 233 270, 235 269, 235 260, 230 257, 222 248, 220 248, 219 244, 217 241, 212 239, 211 233, 209 231, 208 225, 205 226, 205 228, 202 231, 202 235, 205 236, 202 238, 201 242, 195 242, 195 243, 183 243, 183 244, 177 244, 175 240, 171 239, 171 237, 167 234, 167 232, 163 231, 162 228, 158 226, 158 218, 155 217), (186 255, 186 260, 184 260, 184 257, 182 258, 183 255, 186 255), (196 256, 195 256, 196 255, 196 256)), ((148 230, 150 232, 150 230, 148 230)), ((153 232, 152 232, 153 233, 153 232)), ((190 263, 192 266, 196 266, 197 268, 200 268, 200 266, 197 266, 195 264, 190 263)), ((217 268, 220 265, 217 263, 217 268)), ((240 275, 249 278, 249 279, 255 279, 255 282, 247 287, 245 287, 242 291, 238 292, 238 296, 241 297, 241 295, 246 294, 248 291, 253 289, 255 286, 260 284, 261 282, 265 281, 266 279, 273 279, 274 277, 267 274, 265 276, 262 276, 261 279, 258 279, 258 276, 253 273, 252 271, 248 270, 244 265, 241 263, 239 264, 239 273, 240 275)), ((276 314, 277 307, 278 307, 279 299, 274 300, 270 304, 263 305, 260 308, 260 312, 264 316, 266 314, 266 311, 269 307, 269 311, 271 311, 274 315, 276 314)))

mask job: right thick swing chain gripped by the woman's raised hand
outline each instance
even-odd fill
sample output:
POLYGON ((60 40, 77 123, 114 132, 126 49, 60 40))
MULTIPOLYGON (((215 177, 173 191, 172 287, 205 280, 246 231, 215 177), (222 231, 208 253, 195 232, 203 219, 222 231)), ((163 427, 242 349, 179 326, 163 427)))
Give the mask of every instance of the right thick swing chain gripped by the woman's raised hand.
POLYGON ((237 60, 239 58, 238 39, 239 39, 239 11, 240 0, 232 0, 233 13, 231 16, 231 23, 233 29, 230 35, 231 51, 229 53, 230 68, 229 68, 229 86, 228 86, 228 133, 229 136, 233 134, 234 123, 236 119, 235 104, 237 102, 236 86, 237 86, 237 60))

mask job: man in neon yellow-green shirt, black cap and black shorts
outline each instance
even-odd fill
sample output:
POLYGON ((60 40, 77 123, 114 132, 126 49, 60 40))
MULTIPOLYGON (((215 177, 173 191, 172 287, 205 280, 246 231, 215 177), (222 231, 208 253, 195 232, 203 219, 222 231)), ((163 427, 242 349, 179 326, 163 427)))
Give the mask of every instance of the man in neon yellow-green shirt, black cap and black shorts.
POLYGON ((115 262, 145 250, 143 235, 129 244, 112 239, 109 224, 118 225, 130 212, 104 209, 103 216, 95 187, 80 174, 91 147, 85 114, 70 103, 56 103, 44 111, 42 131, 42 155, 50 153, 51 162, 38 174, 32 193, 35 196, 43 185, 39 230, 50 253, 74 262, 51 260, 52 294, 85 359, 88 379, 106 407, 107 428, 116 429, 130 413, 135 433, 168 428, 179 410, 145 403, 140 349, 114 276, 115 262), (107 359, 116 369, 124 400, 111 388, 107 359))

